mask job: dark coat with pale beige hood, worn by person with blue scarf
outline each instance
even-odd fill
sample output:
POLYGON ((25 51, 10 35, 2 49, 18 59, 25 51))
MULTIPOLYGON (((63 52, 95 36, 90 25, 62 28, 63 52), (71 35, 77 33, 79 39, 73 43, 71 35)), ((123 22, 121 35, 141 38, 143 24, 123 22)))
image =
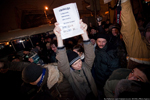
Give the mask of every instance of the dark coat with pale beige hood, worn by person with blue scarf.
POLYGON ((40 90, 46 85, 50 94, 57 100, 76 100, 71 85, 58 70, 57 63, 46 64, 44 68, 47 70, 40 90))

